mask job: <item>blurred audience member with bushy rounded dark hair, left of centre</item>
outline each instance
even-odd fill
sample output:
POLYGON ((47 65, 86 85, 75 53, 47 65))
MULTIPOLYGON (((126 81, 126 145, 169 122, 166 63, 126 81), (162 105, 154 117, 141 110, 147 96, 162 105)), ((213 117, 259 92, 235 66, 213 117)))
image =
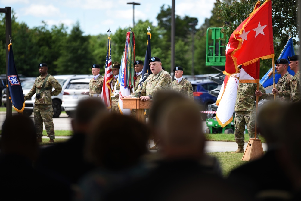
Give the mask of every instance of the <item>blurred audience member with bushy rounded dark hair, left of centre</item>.
POLYGON ((112 187, 125 185, 147 173, 141 156, 147 153, 149 129, 120 114, 96 117, 86 143, 87 159, 98 168, 79 182, 75 200, 100 200, 112 187), (112 122, 114 128, 111 127, 112 122), (131 146, 124 146, 131 144, 131 146))

